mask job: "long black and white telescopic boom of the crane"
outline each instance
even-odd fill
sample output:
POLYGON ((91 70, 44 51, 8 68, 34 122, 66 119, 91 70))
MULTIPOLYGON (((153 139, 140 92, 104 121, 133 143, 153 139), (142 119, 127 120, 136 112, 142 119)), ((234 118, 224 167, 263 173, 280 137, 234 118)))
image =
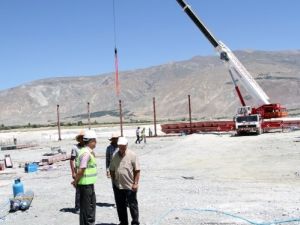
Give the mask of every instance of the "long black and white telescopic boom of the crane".
POLYGON ((233 77, 233 82, 240 81, 243 87, 248 91, 248 93, 253 96, 257 101, 257 104, 270 104, 269 97, 258 85, 258 83, 253 79, 247 69, 243 64, 237 59, 233 52, 221 41, 217 41, 212 33, 206 28, 204 23, 199 17, 193 12, 191 7, 185 2, 185 0, 177 0, 179 5, 183 8, 185 13, 190 17, 190 19, 195 23, 195 25, 200 29, 212 46, 220 55, 220 59, 225 63, 228 68, 230 75, 233 77))

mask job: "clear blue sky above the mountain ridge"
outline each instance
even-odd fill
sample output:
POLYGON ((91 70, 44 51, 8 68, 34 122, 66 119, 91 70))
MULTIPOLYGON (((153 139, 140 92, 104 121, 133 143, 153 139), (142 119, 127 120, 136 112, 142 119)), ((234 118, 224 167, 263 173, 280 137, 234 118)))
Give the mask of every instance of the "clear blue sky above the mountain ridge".
MULTIPOLYGON (((299 0, 187 2, 232 50, 300 49, 299 0)), ((113 72, 112 3, 0 0, 0 90, 113 72)), ((176 0, 115 0, 115 14, 121 71, 215 54, 176 0)))

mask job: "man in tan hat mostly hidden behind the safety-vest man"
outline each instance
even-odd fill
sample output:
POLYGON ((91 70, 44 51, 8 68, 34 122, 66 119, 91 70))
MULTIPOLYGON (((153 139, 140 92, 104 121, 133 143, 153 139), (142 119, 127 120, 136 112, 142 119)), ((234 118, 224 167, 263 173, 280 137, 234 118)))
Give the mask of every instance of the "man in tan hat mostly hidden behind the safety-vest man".
MULTIPOLYGON (((80 149, 84 147, 83 143, 83 135, 84 132, 80 131, 80 133, 76 136, 76 141, 78 142, 76 145, 73 145, 72 151, 71 151, 71 159, 70 159, 70 167, 72 172, 72 178, 74 179, 76 177, 76 173, 78 170, 78 155, 80 149)), ((80 195, 79 195, 79 189, 76 188, 76 194, 75 194, 75 213, 79 214, 80 209, 80 195)))

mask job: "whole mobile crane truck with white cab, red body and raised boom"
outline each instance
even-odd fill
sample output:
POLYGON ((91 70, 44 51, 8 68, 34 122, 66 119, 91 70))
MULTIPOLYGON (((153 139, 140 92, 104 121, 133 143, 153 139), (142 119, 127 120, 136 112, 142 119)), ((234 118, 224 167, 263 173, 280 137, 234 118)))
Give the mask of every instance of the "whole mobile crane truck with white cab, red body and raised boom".
POLYGON ((242 105, 241 108, 238 109, 239 112, 234 116, 237 133, 256 132, 257 134, 261 134, 261 121, 263 119, 286 117, 288 115, 286 108, 282 107, 279 103, 270 103, 268 95, 263 91, 244 65, 223 42, 218 41, 213 36, 186 1, 177 0, 177 2, 215 48, 221 61, 229 71, 235 91, 242 105), (240 85, 253 97, 256 102, 255 106, 248 106, 246 104, 239 88, 240 85), (241 111, 244 113, 240 113, 241 111))

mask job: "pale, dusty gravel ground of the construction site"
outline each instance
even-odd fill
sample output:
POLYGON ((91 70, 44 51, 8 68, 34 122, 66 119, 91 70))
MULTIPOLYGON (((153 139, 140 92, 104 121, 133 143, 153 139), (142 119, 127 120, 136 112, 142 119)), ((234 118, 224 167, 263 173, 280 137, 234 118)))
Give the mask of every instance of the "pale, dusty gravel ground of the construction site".
MULTIPOLYGON (((96 129, 98 162, 96 224, 118 224, 111 180, 105 175, 105 148, 118 127, 96 129)), ((79 130, 0 133, 19 142, 37 143, 31 149, 0 151, 10 154, 13 169, 0 172, 0 216, 9 208, 12 184, 21 177, 25 191, 33 190, 29 210, 10 213, 0 224, 79 224, 72 212, 75 190, 69 161, 59 162, 36 173, 18 168, 39 161, 51 147, 70 152, 79 130)), ((147 144, 134 144, 135 127, 126 127, 129 148, 141 162, 138 191, 142 225, 276 224, 300 218, 300 132, 268 133, 234 137, 231 134, 193 134, 158 137, 147 144), (212 210, 212 211, 209 211, 212 210), (217 210, 217 211, 213 211, 217 210), (246 220, 249 220, 248 222, 246 220)), ((40 168, 42 169, 42 168, 40 168)))

